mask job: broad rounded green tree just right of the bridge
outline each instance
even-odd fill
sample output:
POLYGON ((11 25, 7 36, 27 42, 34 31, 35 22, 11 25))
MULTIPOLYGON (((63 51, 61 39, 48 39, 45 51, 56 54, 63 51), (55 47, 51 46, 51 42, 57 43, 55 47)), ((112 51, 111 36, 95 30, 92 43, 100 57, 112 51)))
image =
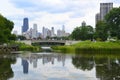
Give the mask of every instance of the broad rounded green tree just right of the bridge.
POLYGON ((88 40, 93 38, 93 33, 92 26, 80 26, 73 30, 71 37, 75 40, 88 40))

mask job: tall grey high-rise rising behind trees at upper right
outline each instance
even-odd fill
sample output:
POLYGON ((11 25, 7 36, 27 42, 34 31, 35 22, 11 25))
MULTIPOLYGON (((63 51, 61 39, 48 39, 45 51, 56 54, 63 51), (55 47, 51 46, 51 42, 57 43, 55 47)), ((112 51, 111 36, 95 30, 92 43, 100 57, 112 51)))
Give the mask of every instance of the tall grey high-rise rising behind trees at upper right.
POLYGON ((104 20, 104 17, 113 8, 113 3, 100 3, 100 18, 104 20))

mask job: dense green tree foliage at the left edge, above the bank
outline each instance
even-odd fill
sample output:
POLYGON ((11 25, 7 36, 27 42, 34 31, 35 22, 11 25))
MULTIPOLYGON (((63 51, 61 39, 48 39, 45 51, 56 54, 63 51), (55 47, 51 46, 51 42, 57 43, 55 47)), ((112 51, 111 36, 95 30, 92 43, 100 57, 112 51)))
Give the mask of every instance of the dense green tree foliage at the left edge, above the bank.
POLYGON ((14 23, 0 15, 0 44, 6 43, 11 37, 14 23))

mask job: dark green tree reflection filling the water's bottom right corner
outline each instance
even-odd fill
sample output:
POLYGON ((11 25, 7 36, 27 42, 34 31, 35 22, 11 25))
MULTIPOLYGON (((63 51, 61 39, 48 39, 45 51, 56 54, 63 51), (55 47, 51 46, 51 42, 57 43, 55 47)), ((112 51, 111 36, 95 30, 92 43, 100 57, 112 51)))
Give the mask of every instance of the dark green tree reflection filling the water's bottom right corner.
POLYGON ((96 77, 100 80, 120 80, 120 63, 116 61, 110 58, 95 59, 96 77))

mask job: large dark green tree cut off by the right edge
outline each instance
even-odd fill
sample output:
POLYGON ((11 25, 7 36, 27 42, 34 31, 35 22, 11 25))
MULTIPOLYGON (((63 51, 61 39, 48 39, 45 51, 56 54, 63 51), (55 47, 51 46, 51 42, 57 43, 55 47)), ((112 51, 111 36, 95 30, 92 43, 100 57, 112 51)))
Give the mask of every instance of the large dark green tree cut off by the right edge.
POLYGON ((111 36, 120 39, 120 7, 113 8, 105 16, 105 20, 109 24, 109 31, 111 36))

